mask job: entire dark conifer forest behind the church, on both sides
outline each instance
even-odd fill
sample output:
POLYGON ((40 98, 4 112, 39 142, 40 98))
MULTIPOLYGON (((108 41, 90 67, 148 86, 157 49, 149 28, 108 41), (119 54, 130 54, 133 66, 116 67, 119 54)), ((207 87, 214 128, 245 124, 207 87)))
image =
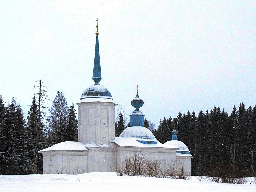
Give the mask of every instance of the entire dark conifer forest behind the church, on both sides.
MULTIPOLYGON (((57 91, 52 106, 47 109, 47 91, 41 82, 36 88, 26 119, 16 99, 7 105, 0 96, 0 174, 42 173, 39 150, 63 141, 77 141, 74 103, 68 107, 63 91, 57 91)), ((120 112, 116 136, 126 124, 122 109, 120 112)), ((152 130, 152 123, 147 119, 144 126, 161 143, 171 140, 175 127, 178 140, 187 145, 193 156, 192 175, 255 176, 256 106, 246 109, 240 103, 238 108, 233 106, 230 115, 215 106, 198 115, 179 112, 175 118, 160 119, 157 130, 152 130)))

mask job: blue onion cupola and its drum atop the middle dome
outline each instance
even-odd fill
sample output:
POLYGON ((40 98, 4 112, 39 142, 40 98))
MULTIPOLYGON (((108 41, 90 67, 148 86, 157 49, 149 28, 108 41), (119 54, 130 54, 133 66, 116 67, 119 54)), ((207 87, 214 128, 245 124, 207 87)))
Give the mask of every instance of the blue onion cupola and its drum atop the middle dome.
POLYGON ((144 126, 144 115, 139 110, 144 104, 143 100, 139 98, 138 91, 136 97, 131 101, 131 105, 135 110, 130 114, 130 127, 144 126))

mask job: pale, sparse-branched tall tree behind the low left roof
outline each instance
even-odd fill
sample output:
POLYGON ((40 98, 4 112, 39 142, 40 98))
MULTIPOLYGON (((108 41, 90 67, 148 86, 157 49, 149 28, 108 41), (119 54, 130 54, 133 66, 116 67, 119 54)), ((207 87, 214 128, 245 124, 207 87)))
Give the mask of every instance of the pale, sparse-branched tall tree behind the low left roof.
POLYGON ((64 141, 64 129, 67 128, 67 116, 69 108, 63 91, 57 91, 57 94, 52 101, 52 106, 49 109, 48 116, 49 141, 52 144, 57 144, 64 141))

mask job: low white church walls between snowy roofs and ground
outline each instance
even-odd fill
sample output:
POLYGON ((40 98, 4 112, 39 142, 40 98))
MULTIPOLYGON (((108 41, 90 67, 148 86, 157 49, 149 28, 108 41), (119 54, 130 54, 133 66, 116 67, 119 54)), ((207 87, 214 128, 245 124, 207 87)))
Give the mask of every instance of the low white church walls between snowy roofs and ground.
POLYGON ((190 175, 191 157, 176 156, 176 150, 170 148, 121 147, 115 143, 79 150, 52 150, 43 154, 44 174, 81 174, 87 172, 116 172, 117 165, 124 162, 126 156, 143 155, 145 159, 156 160, 161 168, 168 169, 175 163, 183 167, 190 175))

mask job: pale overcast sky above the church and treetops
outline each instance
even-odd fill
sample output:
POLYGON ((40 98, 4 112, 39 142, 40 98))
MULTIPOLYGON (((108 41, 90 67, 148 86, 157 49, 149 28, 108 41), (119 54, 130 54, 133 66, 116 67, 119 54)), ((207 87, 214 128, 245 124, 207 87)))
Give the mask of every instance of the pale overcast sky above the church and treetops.
POLYGON ((94 83, 97 18, 100 84, 128 116, 137 85, 156 126, 179 111, 255 106, 255 1, 0 1, 4 101, 27 114, 39 79, 51 100, 59 90, 79 101, 94 83))

